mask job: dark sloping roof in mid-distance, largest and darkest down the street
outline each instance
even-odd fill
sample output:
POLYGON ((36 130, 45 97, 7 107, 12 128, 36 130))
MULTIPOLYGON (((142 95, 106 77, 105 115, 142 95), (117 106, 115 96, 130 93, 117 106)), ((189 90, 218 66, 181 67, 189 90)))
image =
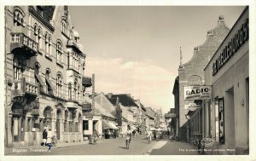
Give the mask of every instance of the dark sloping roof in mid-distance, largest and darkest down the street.
MULTIPOLYGON (((116 104, 116 99, 117 97, 119 97, 119 102, 123 105, 123 106, 137 106, 137 104, 134 102, 134 100, 131 98, 130 95, 128 94, 120 94, 120 95, 111 95, 111 97, 109 98, 108 95, 106 95, 106 97, 108 98, 108 100, 115 105, 116 104)), ((138 106, 137 106, 138 107, 138 106)))

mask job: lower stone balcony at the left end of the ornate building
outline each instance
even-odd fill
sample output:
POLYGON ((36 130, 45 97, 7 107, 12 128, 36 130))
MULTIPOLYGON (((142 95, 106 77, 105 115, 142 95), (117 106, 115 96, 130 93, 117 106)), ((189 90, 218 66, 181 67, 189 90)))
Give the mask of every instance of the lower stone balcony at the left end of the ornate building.
POLYGON ((29 95, 32 97, 38 96, 38 86, 32 83, 26 82, 26 78, 20 80, 14 80, 11 83, 11 94, 15 96, 29 95))

